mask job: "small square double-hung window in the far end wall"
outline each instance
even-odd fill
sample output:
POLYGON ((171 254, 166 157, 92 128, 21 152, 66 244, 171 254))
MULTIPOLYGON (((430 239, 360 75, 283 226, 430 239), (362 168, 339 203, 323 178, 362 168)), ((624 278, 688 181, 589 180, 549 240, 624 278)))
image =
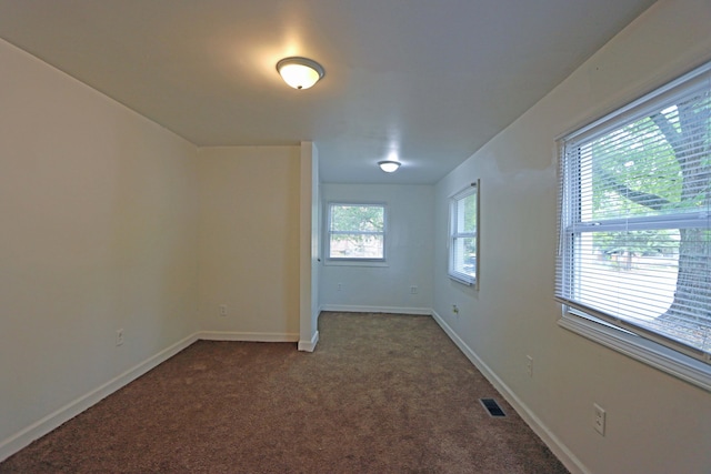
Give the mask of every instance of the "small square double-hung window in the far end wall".
POLYGON ((329 204, 330 260, 384 261, 385 206, 329 204))

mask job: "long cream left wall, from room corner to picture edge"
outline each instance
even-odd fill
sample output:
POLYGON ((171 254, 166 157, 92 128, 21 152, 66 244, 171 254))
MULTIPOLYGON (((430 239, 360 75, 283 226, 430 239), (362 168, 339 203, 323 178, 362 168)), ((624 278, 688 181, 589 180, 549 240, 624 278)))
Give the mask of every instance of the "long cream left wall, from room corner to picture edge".
POLYGON ((198 234, 196 147, 1 40, 0 64, 2 453, 197 331, 198 234))

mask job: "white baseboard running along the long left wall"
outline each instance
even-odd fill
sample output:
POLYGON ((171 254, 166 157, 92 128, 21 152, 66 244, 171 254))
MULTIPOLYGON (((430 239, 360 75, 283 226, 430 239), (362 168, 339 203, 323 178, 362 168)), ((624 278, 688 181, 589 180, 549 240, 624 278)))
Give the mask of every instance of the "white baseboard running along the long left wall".
POLYGON ((47 433, 59 427, 62 423, 68 422, 81 412, 96 405, 101 400, 111 395, 117 390, 133 382, 151 369, 158 366, 162 362, 172 357, 183 349, 198 340, 198 334, 191 334, 188 337, 174 343, 173 345, 162 350, 156 355, 148 357, 146 361, 134 365, 122 374, 111 379, 103 385, 92 390, 91 392, 80 396, 79 399, 66 404, 53 413, 44 416, 36 423, 32 423, 24 430, 14 435, 0 441, 0 461, 10 457, 34 440, 44 436, 47 433))

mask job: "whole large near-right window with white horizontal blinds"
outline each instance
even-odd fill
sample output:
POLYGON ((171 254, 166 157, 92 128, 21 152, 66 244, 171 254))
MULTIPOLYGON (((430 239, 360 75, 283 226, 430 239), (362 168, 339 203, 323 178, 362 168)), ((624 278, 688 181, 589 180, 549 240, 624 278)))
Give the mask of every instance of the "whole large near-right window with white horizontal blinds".
POLYGON ((711 64, 563 138, 560 178, 563 317, 711 390, 711 64))

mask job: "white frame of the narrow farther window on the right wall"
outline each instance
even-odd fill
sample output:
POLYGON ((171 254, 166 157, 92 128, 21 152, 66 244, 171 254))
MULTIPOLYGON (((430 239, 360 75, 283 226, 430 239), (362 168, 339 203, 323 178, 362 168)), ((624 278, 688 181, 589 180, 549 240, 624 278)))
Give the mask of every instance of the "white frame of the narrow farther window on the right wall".
POLYGON ((448 228, 448 238, 447 238, 447 246, 448 246, 448 264, 447 264, 447 273, 449 278, 455 282, 461 284, 472 286, 474 290, 479 290, 479 199, 481 194, 481 186, 479 180, 470 183, 467 188, 455 192, 454 194, 449 196, 449 228, 448 228), (464 200, 471 195, 474 195, 474 209, 475 209, 475 218, 474 218, 474 231, 473 232, 460 232, 459 229, 459 213, 463 212, 460 210, 460 205, 463 204, 464 200), (474 239, 474 248, 477 249, 475 260, 474 260, 474 269, 473 274, 460 271, 457 265, 457 245, 458 239, 474 239))

